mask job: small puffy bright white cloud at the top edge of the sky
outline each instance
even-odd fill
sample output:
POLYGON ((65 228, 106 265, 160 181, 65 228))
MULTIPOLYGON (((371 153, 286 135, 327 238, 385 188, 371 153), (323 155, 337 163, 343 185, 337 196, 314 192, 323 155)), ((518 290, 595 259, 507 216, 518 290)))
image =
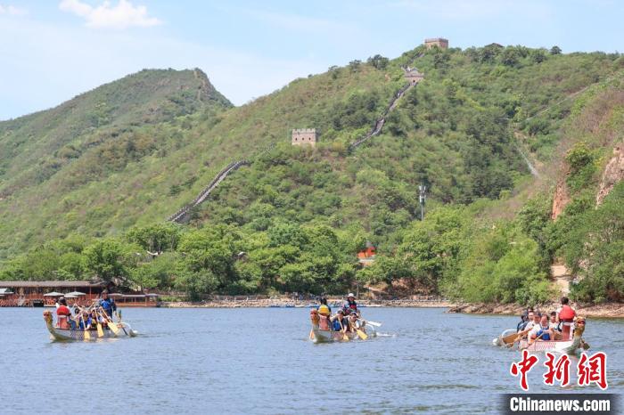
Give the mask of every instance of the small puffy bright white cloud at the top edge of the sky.
POLYGON ((119 0, 114 6, 106 1, 95 7, 80 0, 62 0, 59 8, 84 18, 90 28, 146 28, 161 23, 157 18, 148 16, 147 7, 135 6, 127 0, 119 0))

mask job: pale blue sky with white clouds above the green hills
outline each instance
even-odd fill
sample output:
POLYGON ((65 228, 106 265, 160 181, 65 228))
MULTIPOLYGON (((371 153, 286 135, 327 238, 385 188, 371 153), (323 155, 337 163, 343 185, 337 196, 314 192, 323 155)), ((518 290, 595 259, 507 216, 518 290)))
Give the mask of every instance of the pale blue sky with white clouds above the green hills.
POLYGON ((425 37, 624 51, 620 0, 0 0, 0 120, 141 69, 200 68, 236 105, 425 37))

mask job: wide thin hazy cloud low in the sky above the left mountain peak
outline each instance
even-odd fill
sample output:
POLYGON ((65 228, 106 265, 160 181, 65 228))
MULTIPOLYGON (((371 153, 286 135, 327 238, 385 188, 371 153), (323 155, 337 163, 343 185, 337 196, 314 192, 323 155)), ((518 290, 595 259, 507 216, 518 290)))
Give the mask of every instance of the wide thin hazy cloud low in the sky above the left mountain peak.
POLYGON ((0 42, 5 58, 0 65, 0 120, 53 107, 145 68, 199 67, 218 91, 242 104, 329 66, 310 57, 275 59, 162 33, 104 32, 37 20, 0 24, 0 39, 9 37, 16 42, 0 42), (3 83, 9 78, 13 82, 3 83))

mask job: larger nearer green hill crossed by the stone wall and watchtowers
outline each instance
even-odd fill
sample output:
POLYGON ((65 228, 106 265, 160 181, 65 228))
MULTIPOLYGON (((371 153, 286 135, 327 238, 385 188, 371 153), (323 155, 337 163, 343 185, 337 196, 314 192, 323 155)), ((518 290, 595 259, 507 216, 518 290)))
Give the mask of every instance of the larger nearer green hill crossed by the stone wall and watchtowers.
MULTIPOLYGON (((96 145, 70 167, 0 201, 6 207, 0 209, 0 233, 14 235, 0 241, 0 255, 32 247, 17 256, 29 261, 36 259, 34 247, 58 249, 65 238, 80 235, 94 247, 138 242, 149 252, 165 251, 166 259, 159 255, 150 264, 130 261, 126 277, 175 286, 191 297, 317 292, 353 287, 354 278, 409 277, 464 298, 536 301, 547 296, 547 262, 565 247, 545 236, 562 225, 535 222, 546 217, 543 204, 515 199, 522 186, 553 176, 540 170, 539 178, 531 177, 523 151, 538 166, 560 157, 567 120, 596 89, 589 85, 602 85, 623 66, 619 54, 421 46, 393 60, 375 56, 295 79, 242 107, 185 110, 182 102, 179 114, 157 123, 120 132, 95 128, 89 139, 96 145), (406 83, 403 68, 412 65, 424 79, 397 101, 406 83), (288 134, 301 127, 320 132, 316 148, 291 146, 288 134), (365 145, 350 146, 372 132, 378 134, 365 145), (220 181, 219 172, 236 160, 252 163, 220 181), (191 226, 161 224, 198 194, 205 199, 202 190, 217 182, 208 186, 209 198, 189 211, 191 226), (425 216, 431 212, 431 219, 425 221, 415 194, 419 184, 428 189, 425 216), (498 216, 497 224, 492 217, 511 206, 506 200, 520 206, 498 216), (26 212, 35 207, 33 222, 26 212), (152 239, 136 239, 150 230, 181 232, 180 247, 154 249, 152 239), (366 240, 378 247, 379 258, 356 272, 355 252, 366 240), (491 250, 503 240, 507 248, 491 250), (233 258, 241 252, 249 256, 239 263, 233 258), (479 258, 487 259, 486 268, 479 258), (171 268, 162 273, 163 266, 171 268)), ((575 151, 583 163, 597 166, 598 149, 575 151)), ((593 185, 587 177, 597 167, 591 166, 566 179, 576 191, 593 185)), ((613 208, 615 189, 603 209, 613 208)), ((79 255, 88 257, 90 247, 79 255)), ((7 263, 4 278, 33 278, 20 261, 7 263)), ((579 296, 594 296, 583 292, 579 296)))

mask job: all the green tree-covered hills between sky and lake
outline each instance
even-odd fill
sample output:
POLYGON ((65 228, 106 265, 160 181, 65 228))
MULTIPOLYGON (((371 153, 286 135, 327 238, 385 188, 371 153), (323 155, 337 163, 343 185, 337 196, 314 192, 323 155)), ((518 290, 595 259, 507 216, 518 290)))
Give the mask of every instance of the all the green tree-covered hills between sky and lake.
POLYGON ((176 86, 143 88, 125 107, 127 85, 113 83, 0 123, 0 255, 9 258, 0 278, 122 277, 193 298, 400 280, 472 301, 535 302, 554 294, 547 273, 562 259, 586 277, 579 298, 618 300, 622 270, 613 279, 587 257, 615 264, 620 254, 579 240, 595 236, 588 223, 612 226, 609 209, 621 206, 617 184, 600 208, 588 200, 622 140, 622 68, 619 54, 418 47, 297 79, 239 108, 197 71, 141 72, 132 77, 142 85, 162 85, 164 72, 176 86), (406 66, 424 80, 382 134, 350 148, 406 85, 406 66), (320 132, 316 148, 290 145, 300 127, 320 132), (189 225, 163 223, 237 159, 250 166, 194 208, 189 225), (557 181, 571 202, 552 221, 557 181), (379 255, 359 270, 367 240, 379 255))

